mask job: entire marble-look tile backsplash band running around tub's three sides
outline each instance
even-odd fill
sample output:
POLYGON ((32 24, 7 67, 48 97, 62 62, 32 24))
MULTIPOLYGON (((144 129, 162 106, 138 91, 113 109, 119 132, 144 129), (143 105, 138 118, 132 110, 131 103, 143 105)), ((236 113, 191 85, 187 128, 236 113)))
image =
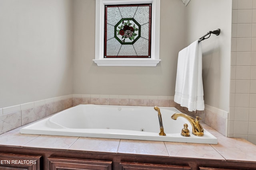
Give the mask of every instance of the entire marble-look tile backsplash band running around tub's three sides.
POLYGON ((42 117, 78 104, 116 105, 116 106, 160 106, 176 107, 184 113, 199 116, 202 122, 210 125, 222 135, 227 135, 228 113, 205 105, 204 111, 189 112, 173 100, 173 96, 129 96, 129 95, 94 95, 73 94, 51 98, 28 104, 0 109, 0 133, 4 133, 21 125, 26 125, 42 117), (10 118, 11 117, 11 118, 10 118))

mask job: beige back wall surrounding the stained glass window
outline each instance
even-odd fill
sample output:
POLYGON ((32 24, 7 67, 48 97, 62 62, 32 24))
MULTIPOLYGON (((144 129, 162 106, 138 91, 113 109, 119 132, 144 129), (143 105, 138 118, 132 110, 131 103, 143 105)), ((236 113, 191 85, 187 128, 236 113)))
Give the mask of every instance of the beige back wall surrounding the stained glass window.
POLYGON ((95 0, 74 1, 74 94, 174 96, 178 51, 185 45, 185 6, 161 0, 160 64, 100 67, 94 59, 95 0))

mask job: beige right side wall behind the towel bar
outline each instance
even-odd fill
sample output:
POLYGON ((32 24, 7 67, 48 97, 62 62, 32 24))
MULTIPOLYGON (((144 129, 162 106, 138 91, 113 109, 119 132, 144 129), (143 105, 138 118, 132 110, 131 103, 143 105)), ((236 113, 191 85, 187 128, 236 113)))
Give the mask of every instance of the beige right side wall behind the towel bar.
POLYGON ((205 104, 229 111, 232 0, 191 0, 186 7, 186 45, 208 31, 220 35, 202 41, 205 104))

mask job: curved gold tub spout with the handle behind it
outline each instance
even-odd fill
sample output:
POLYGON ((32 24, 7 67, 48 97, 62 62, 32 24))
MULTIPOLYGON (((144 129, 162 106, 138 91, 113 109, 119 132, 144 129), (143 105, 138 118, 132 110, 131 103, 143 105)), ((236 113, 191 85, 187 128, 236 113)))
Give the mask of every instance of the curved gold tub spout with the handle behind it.
POLYGON ((193 117, 186 115, 184 113, 174 113, 172 115, 172 119, 174 120, 176 120, 178 117, 184 117, 191 123, 193 135, 204 136, 204 128, 202 127, 202 125, 200 125, 199 122, 199 120, 201 120, 200 117, 196 116, 196 119, 194 119, 193 117))

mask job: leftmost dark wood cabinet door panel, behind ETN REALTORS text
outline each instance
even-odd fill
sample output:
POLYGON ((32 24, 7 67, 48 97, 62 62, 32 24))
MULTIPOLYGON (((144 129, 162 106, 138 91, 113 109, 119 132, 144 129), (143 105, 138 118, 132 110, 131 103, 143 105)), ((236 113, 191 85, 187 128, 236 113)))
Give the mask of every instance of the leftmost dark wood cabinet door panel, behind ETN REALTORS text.
POLYGON ((0 170, 40 170, 40 158, 26 154, 0 153, 0 170))

